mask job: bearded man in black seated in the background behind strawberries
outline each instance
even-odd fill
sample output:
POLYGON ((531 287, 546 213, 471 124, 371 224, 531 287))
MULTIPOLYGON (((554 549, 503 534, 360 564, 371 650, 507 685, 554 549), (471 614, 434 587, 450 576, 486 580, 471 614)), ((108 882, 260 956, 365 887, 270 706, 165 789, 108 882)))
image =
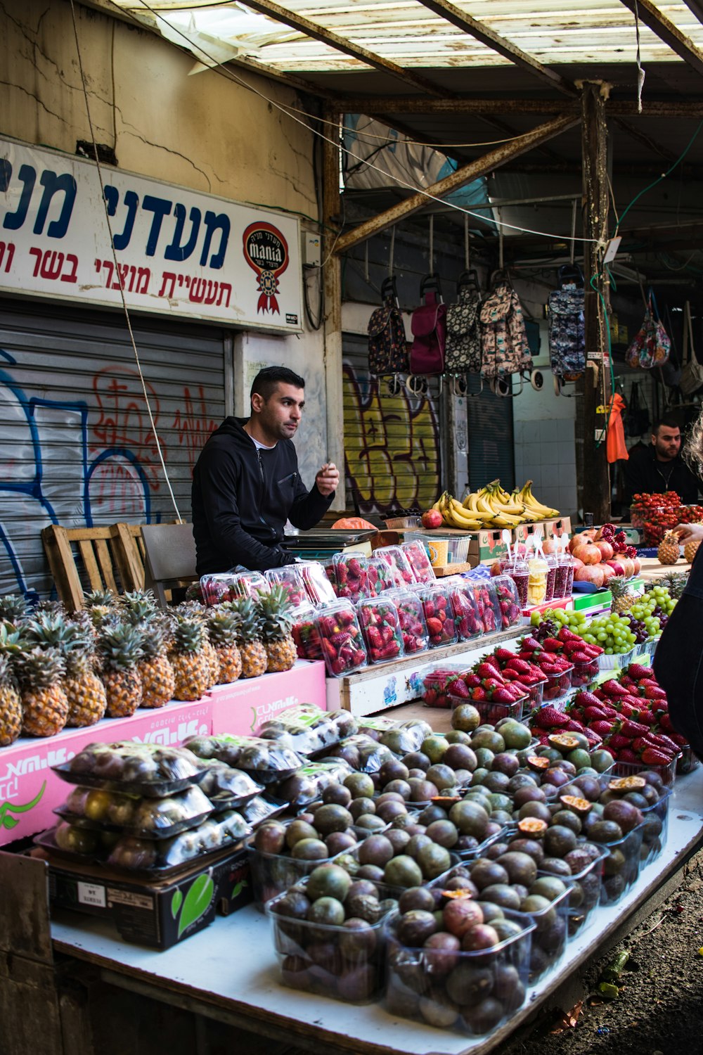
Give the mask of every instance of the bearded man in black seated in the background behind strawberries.
POLYGON ((698 501, 701 481, 681 455, 681 429, 667 418, 657 422, 651 444, 631 450, 623 466, 623 501, 632 504, 633 495, 661 495, 676 491, 684 505, 698 501))

